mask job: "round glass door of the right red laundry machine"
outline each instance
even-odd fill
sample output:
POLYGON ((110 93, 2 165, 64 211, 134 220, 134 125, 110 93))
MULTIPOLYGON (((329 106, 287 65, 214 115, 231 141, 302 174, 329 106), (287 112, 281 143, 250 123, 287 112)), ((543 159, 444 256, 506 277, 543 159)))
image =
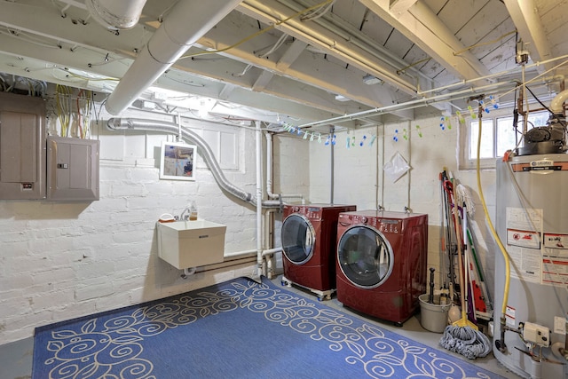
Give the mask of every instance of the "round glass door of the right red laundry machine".
POLYGON ((389 279, 394 255, 383 233, 366 225, 355 225, 339 239, 337 263, 355 286, 376 288, 389 279))

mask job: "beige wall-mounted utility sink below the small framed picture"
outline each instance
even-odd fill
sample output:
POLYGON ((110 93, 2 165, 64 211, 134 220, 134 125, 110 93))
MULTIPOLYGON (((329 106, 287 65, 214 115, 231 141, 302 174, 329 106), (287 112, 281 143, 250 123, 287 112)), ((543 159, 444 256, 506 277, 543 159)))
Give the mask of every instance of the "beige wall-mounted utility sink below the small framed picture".
POLYGON ((207 220, 157 222, 158 256, 177 269, 223 262, 226 226, 207 220))

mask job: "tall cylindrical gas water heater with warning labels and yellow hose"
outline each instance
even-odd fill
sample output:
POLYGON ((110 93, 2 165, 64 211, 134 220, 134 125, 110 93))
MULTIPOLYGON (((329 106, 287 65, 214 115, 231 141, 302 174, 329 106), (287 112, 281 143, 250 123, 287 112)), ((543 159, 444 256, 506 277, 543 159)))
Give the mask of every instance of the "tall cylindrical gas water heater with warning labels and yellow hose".
POLYGON ((496 229, 508 253, 510 277, 503 307, 506 260, 496 252, 493 353, 526 378, 568 379, 566 93, 563 96, 548 126, 537 128, 509 162, 497 162, 496 229), (535 138, 537 134, 544 137, 535 138))

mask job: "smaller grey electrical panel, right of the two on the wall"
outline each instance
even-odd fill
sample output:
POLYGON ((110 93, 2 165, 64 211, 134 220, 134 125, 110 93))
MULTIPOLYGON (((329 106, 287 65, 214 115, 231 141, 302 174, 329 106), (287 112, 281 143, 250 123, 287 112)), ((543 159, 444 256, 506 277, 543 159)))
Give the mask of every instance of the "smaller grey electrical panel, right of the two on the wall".
POLYGON ((47 199, 99 200, 97 139, 47 138, 47 199))

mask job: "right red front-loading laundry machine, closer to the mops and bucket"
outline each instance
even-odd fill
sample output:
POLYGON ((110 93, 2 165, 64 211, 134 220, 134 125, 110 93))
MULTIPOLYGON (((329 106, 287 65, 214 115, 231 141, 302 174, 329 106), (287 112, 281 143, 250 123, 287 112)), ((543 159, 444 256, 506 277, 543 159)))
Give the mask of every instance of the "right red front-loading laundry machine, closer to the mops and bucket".
POLYGON ((426 292, 428 215, 362 210, 337 223, 337 300, 401 327, 426 292))

